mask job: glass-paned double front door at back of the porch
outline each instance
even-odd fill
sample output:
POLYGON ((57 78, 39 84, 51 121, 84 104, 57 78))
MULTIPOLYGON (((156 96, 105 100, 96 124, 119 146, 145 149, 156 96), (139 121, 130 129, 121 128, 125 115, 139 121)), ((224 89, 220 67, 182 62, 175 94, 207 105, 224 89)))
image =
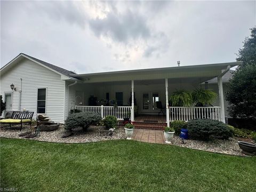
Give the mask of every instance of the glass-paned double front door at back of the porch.
POLYGON ((158 92, 142 92, 141 94, 141 111, 153 113, 156 110, 156 102, 159 101, 159 93, 158 92))

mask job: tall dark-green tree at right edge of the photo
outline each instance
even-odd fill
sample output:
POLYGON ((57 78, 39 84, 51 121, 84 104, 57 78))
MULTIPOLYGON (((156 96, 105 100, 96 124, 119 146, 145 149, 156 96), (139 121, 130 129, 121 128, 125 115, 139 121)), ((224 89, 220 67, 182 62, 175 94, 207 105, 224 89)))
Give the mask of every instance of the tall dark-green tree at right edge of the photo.
POLYGON ((251 29, 244 46, 237 53, 239 65, 230 80, 226 99, 230 104, 229 114, 233 118, 256 119, 256 28, 251 29))

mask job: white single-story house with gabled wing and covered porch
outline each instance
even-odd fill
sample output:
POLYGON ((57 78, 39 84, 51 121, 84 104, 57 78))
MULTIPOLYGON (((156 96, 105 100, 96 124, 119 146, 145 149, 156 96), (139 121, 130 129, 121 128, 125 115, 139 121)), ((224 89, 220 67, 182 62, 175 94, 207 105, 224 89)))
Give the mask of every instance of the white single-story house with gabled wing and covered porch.
POLYGON ((94 111, 102 117, 115 115, 118 119, 131 113, 133 122, 137 121, 134 113, 141 115, 138 118, 142 119, 159 118, 157 101, 162 103, 164 115, 161 118, 167 125, 175 119, 187 121, 204 117, 225 122, 227 102, 223 90, 226 82, 222 85, 221 77, 228 73, 230 67, 239 63, 75 74, 20 53, 1 68, 0 94, 6 102, 6 111, 35 111, 35 117, 37 114, 45 114, 59 123, 64 123, 70 109, 94 111), (217 81, 209 81, 212 78, 217 81), (219 93, 219 102, 215 102, 217 106, 200 109, 169 107, 168 98, 173 91, 181 88, 193 90, 194 87, 203 86, 204 82, 208 82, 206 84, 213 86, 219 93), (11 84, 14 85, 13 90, 11 84), (102 102, 111 103, 113 100, 118 107, 101 105, 102 102), (100 105, 95 101, 100 101, 100 105))

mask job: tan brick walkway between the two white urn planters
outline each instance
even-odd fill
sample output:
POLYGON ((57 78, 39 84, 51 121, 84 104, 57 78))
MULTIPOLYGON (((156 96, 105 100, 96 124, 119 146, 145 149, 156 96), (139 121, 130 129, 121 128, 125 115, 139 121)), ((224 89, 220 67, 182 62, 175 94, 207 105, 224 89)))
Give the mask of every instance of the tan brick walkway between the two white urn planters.
POLYGON ((150 143, 165 143, 164 132, 162 130, 134 129, 132 139, 150 143))

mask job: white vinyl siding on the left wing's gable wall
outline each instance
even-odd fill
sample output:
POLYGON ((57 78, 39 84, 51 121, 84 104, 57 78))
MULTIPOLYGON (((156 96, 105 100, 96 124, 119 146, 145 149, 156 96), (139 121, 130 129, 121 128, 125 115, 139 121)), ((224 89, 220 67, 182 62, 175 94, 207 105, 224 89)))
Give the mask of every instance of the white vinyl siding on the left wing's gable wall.
POLYGON ((14 84, 17 91, 13 91, 12 110, 34 111, 37 115, 37 89, 46 88, 46 115, 54 122, 63 123, 65 113, 65 81, 61 76, 37 63, 22 59, 9 71, 1 73, 0 94, 10 92, 10 85, 14 84), (21 107, 19 108, 19 91, 22 78, 21 107))

